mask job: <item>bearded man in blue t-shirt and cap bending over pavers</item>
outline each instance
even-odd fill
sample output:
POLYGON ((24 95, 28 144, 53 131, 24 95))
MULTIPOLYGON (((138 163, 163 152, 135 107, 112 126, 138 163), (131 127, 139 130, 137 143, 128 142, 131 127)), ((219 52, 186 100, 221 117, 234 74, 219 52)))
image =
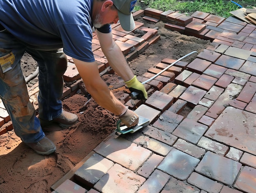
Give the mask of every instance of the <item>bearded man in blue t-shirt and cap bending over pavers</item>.
POLYGON ((99 76, 92 53, 92 27, 110 66, 131 90, 147 93, 112 40, 110 24, 120 20, 126 31, 135 28, 131 11, 136 0, 0 0, 0 97, 10 114, 18 137, 38 154, 53 153, 56 147, 40 126, 52 122, 67 128, 78 121, 76 114, 62 110, 65 54, 71 56, 93 99, 119 116, 128 127, 138 116, 110 92, 99 76), (58 49, 63 47, 63 54, 58 49), (27 52, 39 66, 39 119, 29 102, 20 68, 27 52))

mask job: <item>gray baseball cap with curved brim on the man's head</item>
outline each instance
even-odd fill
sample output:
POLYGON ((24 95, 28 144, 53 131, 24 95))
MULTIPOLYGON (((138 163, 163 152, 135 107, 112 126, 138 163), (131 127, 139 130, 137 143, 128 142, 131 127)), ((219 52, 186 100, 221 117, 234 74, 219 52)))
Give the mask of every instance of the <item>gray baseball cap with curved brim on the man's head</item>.
POLYGON ((132 31, 135 28, 135 22, 132 17, 132 10, 137 0, 112 0, 118 10, 121 27, 125 31, 132 31))

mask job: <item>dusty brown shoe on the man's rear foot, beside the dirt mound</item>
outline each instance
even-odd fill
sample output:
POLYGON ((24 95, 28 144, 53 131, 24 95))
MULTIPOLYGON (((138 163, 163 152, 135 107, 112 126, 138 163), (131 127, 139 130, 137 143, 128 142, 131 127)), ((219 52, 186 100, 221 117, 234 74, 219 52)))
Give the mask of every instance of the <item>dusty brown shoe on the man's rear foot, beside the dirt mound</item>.
POLYGON ((52 119, 52 121, 45 121, 39 117, 40 124, 42 127, 50 125, 52 123, 58 123, 61 128, 68 128, 74 125, 78 121, 78 117, 76 114, 63 111, 60 116, 52 119))

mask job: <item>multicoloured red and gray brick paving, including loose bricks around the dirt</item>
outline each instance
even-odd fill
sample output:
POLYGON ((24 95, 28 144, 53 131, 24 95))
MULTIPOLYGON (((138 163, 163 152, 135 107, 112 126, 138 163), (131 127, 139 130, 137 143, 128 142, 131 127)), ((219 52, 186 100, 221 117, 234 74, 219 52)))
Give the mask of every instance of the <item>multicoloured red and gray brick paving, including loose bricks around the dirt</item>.
MULTIPOLYGON (((256 26, 200 11, 188 24, 191 18, 172 10, 147 9, 146 16, 212 43, 190 63, 166 70, 161 76, 169 81, 159 76, 146 84, 147 101, 126 102, 150 124, 126 135, 114 132, 75 172, 69 188, 79 182, 90 193, 256 193, 256 26)), ((136 27, 148 34, 137 38, 118 24, 112 30, 124 54, 135 46, 128 61, 146 52, 146 39, 157 33, 139 22, 136 27)), ((108 63, 94 39, 94 55, 104 70, 108 63)), ((139 81, 174 61, 166 56, 139 81)))

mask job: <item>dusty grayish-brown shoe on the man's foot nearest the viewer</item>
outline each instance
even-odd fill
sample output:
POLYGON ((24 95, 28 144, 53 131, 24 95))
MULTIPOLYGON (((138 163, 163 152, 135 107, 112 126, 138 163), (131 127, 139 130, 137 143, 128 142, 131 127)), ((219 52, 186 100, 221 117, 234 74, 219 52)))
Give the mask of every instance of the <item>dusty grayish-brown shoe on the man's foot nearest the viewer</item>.
POLYGON ((56 150, 54 143, 46 136, 38 142, 26 143, 26 145, 40 155, 49 155, 56 150))

